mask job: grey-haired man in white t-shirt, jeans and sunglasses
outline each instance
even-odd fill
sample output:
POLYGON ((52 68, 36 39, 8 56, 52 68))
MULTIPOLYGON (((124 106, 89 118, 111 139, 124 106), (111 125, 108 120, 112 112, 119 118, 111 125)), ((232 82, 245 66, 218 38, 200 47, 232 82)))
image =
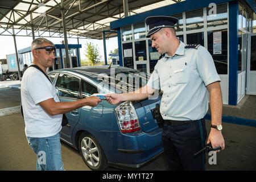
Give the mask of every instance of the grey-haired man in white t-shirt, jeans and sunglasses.
MULTIPOLYGON (((55 59, 55 47, 44 38, 31 44, 33 64, 45 73, 55 59)), ((21 84, 25 133, 28 144, 38 156, 37 170, 64 170, 61 159, 60 130, 64 113, 89 105, 96 106, 101 100, 96 96, 73 102, 60 102, 55 87, 48 78, 34 67, 24 72, 21 84)))

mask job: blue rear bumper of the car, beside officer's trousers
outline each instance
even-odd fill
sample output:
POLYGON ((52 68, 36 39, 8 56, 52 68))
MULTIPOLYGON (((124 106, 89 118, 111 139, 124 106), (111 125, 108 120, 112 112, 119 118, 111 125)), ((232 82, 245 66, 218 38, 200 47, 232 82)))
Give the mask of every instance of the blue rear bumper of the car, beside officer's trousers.
MULTIPOLYGON (((159 128, 150 133, 137 131, 130 134, 112 133, 111 135, 111 142, 108 143, 109 150, 104 152, 112 166, 138 168, 163 152, 162 129, 159 128)), ((107 146, 102 148, 105 149, 107 146)))

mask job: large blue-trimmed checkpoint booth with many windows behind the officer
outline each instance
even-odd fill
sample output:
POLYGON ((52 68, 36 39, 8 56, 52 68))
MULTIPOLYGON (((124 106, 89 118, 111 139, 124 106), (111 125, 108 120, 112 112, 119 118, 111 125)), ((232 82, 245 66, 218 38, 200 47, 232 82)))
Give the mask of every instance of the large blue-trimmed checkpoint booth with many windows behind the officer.
POLYGON ((119 65, 152 73, 160 54, 146 38, 145 18, 179 19, 176 35, 185 44, 201 44, 213 57, 221 78, 223 104, 237 105, 245 94, 256 95, 255 1, 187 0, 110 22, 117 31, 119 65))

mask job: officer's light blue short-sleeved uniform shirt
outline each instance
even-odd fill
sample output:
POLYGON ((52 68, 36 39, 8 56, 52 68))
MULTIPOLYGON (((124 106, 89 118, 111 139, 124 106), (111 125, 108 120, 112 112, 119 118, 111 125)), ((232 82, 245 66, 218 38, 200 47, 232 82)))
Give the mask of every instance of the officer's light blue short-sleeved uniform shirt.
POLYGON ((220 81, 212 56, 203 46, 185 48, 174 56, 158 60, 147 85, 163 91, 160 113, 163 119, 201 119, 208 111, 207 85, 220 81))

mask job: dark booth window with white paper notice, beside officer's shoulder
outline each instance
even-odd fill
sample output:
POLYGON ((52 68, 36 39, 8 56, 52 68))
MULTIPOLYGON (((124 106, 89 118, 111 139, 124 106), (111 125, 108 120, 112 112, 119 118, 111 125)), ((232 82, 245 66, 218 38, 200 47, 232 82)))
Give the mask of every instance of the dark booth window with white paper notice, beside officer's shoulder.
POLYGON ((208 31, 208 51, 219 75, 228 74, 228 30, 208 31))

